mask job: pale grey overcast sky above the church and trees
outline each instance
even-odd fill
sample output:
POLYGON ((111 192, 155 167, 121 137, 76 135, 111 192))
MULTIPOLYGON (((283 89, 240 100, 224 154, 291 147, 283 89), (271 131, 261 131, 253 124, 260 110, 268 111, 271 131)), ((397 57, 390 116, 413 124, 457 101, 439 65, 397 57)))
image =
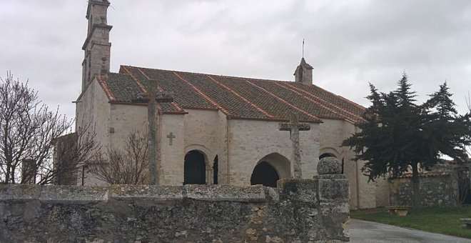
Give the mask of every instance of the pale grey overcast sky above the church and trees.
MULTIPOLYGON (((11 72, 73 118, 81 92, 86 0, 0 1, 0 76, 11 72)), ((368 82, 406 71, 419 101, 447 81, 460 113, 471 91, 471 1, 111 0, 119 65, 313 83, 368 106, 368 82)))

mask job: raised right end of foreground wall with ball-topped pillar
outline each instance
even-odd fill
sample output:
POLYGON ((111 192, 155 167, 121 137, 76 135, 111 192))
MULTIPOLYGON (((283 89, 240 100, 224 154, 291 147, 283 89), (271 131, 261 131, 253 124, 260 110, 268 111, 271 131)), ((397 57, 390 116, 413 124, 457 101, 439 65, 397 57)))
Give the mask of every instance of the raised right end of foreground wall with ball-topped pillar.
POLYGON ((320 159, 319 175, 313 179, 278 181, 283 190, 280 199, 290 202, 280 207, 284 217, 290 218, 286 224, 293 228, 288 238, 299 242, 350 241, 350 192, 340 170, 337 159, 325 157, 320 159))

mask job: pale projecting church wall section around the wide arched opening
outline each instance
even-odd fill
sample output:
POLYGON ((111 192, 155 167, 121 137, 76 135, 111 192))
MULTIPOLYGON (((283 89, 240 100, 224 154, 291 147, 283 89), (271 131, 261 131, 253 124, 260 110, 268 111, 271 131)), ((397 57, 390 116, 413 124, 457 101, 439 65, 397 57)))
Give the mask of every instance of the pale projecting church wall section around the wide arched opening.
MULTIPOLYGON (((293 153, 290 132, 280 131, 274 121, 229 120, 229 171, 230 184, 237 186, 250 185, 253 169, 270 154, 276 154, 288 160, 288 163, 270 163, 279 176, 292 174, 293 166, 289 163, 293 153)), ((299 133, 301 167, 303 178, 313 178, 317 174, 316 166, 319 158, 318 124, 310 124, 309 131, 299 133)), ((285 160, 283 159, 283 160, 285 160)), ((278 161, 281 161, 279 159, 278 161)), ((280 177, 283 178, 283 177, 280 177)))

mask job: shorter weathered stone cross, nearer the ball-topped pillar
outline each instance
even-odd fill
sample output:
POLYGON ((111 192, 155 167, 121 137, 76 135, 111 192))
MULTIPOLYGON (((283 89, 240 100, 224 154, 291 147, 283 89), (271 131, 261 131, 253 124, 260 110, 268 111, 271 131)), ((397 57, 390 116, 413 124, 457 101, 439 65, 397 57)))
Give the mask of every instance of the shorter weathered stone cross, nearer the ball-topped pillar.
POLYGON ((301 152, 299 148, 299 131, 309 131, 310 124, 300 123, 298 114, 293 112, 290 115, 290 122, 278 124, 280 131, 290 131, 290 139, 293 144, 293 154, 291 156, 291 162, 293 162, 293 177, 295 179, 301 179, 303 172, 301 170, 301 152))

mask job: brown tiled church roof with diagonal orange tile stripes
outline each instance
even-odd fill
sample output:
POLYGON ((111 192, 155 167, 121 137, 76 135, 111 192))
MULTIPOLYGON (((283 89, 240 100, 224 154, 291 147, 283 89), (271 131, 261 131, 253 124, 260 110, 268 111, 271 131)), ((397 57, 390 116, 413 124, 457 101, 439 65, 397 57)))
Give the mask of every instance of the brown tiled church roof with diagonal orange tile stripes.
POLYGON ((219 109, 231 119, 285 120, 294 110, 303 122, 321 122, 320 119, 359 122, 365 110, 363 106, 318 86, 293 81, 135 66, 121 66, 118 74, 110 73, 108 79, 98 81, 110 101, 131 103, 147 91, 151 79, 156 81, 158 91, 173 91, 173 103, 159 104, 163 112, 219 109))

